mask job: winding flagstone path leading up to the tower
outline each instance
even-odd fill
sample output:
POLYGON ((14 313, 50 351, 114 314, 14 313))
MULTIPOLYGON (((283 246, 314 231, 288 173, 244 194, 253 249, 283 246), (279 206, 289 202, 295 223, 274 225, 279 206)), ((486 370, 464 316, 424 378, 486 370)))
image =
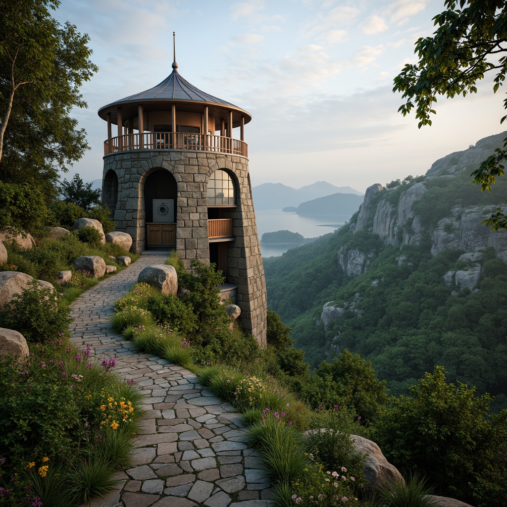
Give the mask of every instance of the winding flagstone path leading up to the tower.
POLYGON ((163 264, 168 252, 144 252, 118 274, 88 289, 72 305, 71 339, 90 344, 99 358, 116 357, 116 372, 146 394, 146 417, 134 441, 132 467, 119 472, 118 488, 93 507, 268 507, 272 489, 246 429, 229 403, 197 377, 160 357, 137 353, 109 321, 115 301, 140 271, 163 264))

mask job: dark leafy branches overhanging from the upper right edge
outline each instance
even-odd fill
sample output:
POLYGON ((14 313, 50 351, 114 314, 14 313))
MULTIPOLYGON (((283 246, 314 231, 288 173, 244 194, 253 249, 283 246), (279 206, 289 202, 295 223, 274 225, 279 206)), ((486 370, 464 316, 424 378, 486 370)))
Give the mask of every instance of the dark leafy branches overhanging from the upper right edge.
MULTIPOLYGON (((419 128, 431 125, 437 95, 477 93, 476 83, 491 70, 496 92, 507 73, 505 0, 445 0, 444 6, 447 10, 433 18, 438 26, 433 37, 421 38, 415 45, 419 62, 405 65, 394 78, 393 91, 403 92, 406 99, 399 111, 405 116, 416 107, 419 128)), ((507 99, 504 107, 507 108, 507 99)), ((491 191, 496 178, 503 176, 506 160, 507 138, 503 149, 496 149, 472 173, 473 183, 480 185, 481 190, 491 191)), ((493 230, 507 229, 507 216, 498 208, 485 223, 493 230)))

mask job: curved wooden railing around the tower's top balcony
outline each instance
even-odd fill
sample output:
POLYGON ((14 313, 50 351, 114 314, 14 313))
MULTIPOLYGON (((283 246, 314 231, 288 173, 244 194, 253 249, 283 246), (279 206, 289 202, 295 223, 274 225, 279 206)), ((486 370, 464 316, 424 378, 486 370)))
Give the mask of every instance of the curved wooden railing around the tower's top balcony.
POLYGON ((239 139, 211 134, 143 132, 124 134, 104 141, 104 155, 128 150, 198 150, 248 156, 248 145, 239 139))

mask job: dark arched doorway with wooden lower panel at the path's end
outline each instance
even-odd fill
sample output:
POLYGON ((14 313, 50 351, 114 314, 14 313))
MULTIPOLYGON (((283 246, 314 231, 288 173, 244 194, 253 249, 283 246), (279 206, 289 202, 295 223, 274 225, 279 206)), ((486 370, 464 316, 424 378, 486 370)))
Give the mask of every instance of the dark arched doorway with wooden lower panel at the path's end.
POLYGON ((165 169, 152 172, 144 183, 146 247, 165 249, 176 246, 177 184, 165 169))

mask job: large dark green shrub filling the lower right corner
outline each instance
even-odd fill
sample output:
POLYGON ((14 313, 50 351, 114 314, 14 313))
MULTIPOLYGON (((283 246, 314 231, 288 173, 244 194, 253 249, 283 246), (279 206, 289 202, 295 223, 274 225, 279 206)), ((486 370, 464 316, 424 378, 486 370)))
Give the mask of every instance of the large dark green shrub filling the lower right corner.
POLYGON ((507 495, 507 410, 489 415, 491 397, 437 366, 410 396, 394 399, 380 418, 375 441, 398 468, 417 470, 441 493, 479 507, 507 495))

